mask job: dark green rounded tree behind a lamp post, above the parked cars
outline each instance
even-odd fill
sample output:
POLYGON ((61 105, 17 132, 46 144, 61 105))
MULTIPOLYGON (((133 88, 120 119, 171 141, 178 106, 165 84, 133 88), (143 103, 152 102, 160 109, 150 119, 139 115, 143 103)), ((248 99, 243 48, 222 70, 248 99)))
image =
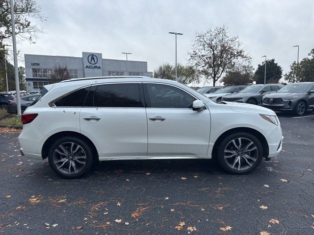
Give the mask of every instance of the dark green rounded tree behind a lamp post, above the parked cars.
MULTIPOLYGON (((255 71, 256 84, 264 84, 264 75, 265 62, 262 62, 255 71)), ((278 83, 282 75, 283 69, 275 63, 275 59, 266 60, 266 83, 278 83)))

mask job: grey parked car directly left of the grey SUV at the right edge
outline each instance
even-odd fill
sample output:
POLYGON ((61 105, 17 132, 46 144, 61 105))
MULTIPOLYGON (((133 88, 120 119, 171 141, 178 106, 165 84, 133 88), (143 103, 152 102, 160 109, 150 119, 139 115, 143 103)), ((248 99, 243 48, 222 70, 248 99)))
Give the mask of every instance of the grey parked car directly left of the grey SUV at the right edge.
POLYGON ((262 97, 265 94, 274 93, 284 87, 282 84, 257 84, 251 85, 236 94, 222 97, 223 101, 262 105, 262 97))

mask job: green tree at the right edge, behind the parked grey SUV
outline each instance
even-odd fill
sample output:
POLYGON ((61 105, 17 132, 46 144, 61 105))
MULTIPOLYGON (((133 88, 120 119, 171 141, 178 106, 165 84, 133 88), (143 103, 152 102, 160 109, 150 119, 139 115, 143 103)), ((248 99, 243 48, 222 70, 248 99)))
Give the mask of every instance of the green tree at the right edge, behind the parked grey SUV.
POLYGON ((290 65, 290 71, 285 74, 288 82, 314 82, 314 48, 308 56, 299 65, 295 61, 290 65))

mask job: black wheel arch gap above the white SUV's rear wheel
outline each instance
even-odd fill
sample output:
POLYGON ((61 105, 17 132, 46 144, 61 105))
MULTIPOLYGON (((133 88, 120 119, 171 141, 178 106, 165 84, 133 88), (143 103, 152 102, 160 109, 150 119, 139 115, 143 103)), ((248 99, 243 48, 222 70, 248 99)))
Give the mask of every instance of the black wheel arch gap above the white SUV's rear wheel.
POLYGON ((88 137, 84 136, 81 133, 74 132, 74 131, 61 131, 61 132, 57 132, 57 133, 53 134, 52 136, 50 136, 45 141, 45 143, 43 144, 43 147, 41 150, 42 158, 45 159, 48 157, 49 147, 52 145, 52 143, 54 141, 56 141, 57 139, 59 139, 61 137, 66 137, 66 136, 77 137, 79 139, 82 139, 83 141, 86 141, 88 143, 88 145, 92 148, 93 152, 95 153, 95 158, 98 159, 99 155, 98 155, 98 151, 97 151, 95 144, 88 137))

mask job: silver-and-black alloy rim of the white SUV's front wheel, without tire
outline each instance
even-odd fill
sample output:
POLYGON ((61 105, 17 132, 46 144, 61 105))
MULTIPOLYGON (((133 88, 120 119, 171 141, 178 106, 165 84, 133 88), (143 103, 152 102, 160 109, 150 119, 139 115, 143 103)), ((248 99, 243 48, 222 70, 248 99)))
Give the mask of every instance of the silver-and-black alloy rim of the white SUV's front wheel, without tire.
POLYGON ((236 138, 226 145, 224 159, 232 169, 247 170, 258 160, 257 146, 247 138, 236 138))

